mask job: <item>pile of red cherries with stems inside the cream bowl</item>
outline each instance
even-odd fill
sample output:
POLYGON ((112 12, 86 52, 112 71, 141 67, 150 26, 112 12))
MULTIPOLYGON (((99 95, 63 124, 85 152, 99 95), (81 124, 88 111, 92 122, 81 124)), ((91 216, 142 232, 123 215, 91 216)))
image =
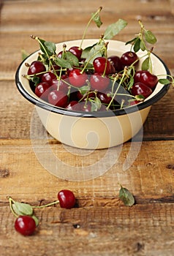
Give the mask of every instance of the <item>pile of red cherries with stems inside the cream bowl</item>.
MULTIPOLYGON (((105 111, 108 109, 116 110, 135 105, 147 98, 155 89, 158 83, 156 75, 147 70, 137 70, 133 76, 132 84, 128 94, 132 97, 126 97, 114 94, 113 81, 117 76, 121 77, 125 67, 135 64, 139 61, 137 54, 133 51, 127 51, 119 56, 99 56, 93 61, 93 67, 83 70, 85 60, 81 59, 82 49, 74 46, 69 48, 79 60, 79 67, 62 69, 56 65, 48 71, 42 61, 33 61, 29 65, 28 76, 35 75, 38 83, 31 83, 31 88, 37 97, 60 108, 75 111, 105 111), (62 72, 60 72, 60 70, 62 72), (83 71, 83 72, 82 72, 83 71), (88 86, 88 91, 82 93, 83 88, 88 86), (142 96, 138 98, 137 96, 142 96), (97 101, 98 100, 98 101, 97 101), (97 108, 92 109, 92 102, 99 102, 97 108), (110 104, 112 102, 112 104, 110 104), (124 102, 121 105, 121 102, 124 102)), ((62 58, 63 52, 58 53, 62 58)), ((129 83, 129 78, 128 82, 129 83)), ((116 83, 118 86, 118 83, 116 83)), ((121 94, 120 94, 121 95, 121 94)))

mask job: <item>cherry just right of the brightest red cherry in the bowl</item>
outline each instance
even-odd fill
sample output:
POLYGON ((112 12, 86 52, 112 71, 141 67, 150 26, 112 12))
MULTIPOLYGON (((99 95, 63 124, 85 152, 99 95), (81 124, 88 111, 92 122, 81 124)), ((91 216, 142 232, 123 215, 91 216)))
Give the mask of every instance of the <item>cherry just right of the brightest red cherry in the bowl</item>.
POLYGON ((90 78, 91 88, 97 91, 105 91, 110 84, 110 79, 102 75, 94 74, 90 78))

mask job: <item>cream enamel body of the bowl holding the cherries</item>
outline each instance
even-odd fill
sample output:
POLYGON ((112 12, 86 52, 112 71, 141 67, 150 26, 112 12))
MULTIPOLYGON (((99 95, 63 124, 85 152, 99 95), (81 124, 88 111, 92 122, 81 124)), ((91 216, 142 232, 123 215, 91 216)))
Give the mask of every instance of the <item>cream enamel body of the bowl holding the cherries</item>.
MULTIPOLYGON (((63 43, 67 49, 80 45, 81 40, 61 42, 56 44, 56 50, 62 49, 63 43)), ((83 48, 93 45, 98 39, 85 39, 83 48)), ((108 56, 121 56, 122 53, 130 50, 130 45, 116 40, 108 40, 108 56)), ((16 72, 15 80, 20 93, 36 105, 37 113, 45 129, 61 143, 77 148, 97 149, 118 146, 133 138, 140 131, 145 119, 148 116, 151 106, 161 99, 170 87, 168 85, 157 84, 153 93, 138 105, 129 108, 112 111, 76 112, 58 108, 48 102, 39 99, 31 90, 29 81, 23 77, 27 74, 28 67, 25 63, 31 64, 37 60, 38 52, 32 53, 25 59, 16 72)), ((137 55, 144 56, 143 52, 137 55)), ((170 75, 169 70, 159 57, 152 54, 153 73, 155 75, 170 75)), ((140 64, 143 58, 140 59, 140 64)))

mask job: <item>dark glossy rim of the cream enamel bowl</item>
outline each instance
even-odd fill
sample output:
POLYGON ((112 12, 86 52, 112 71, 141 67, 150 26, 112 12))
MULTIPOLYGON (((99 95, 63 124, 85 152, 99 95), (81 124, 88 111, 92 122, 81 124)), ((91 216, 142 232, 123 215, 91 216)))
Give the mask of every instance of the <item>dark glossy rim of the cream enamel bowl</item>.
MULTIPOLYGON (((29 56, 31 56, 33 53, 31 53, 29 56)), ((154 54, 154 53, 153 53, 154 54)), ((156 56, 156 54, 154 54, 156 56)), ((28 59, 29 56, 26 58, 28 59)), ((164 69, 166 70, 166 76, 170 75, 170 70, 167 68, 166 64, 164 63, 164 61, 162 61, 162 59, 159 58, 159 56, 156 56, 156 58, 159 59, 159 61, 162 62, 162 64, 164 65, 164 69)), ((25 97, 27 100, 29 100, 29 102, 31 102, 32 104, 36 105, 39 108, 43 108, 45 110, 48 110, 50 112, 53 113, 58 113, 61 115, 66 115, 66 116, 77 116, 77 117, 110 117, 110 116, 121 116, 121 115, 125 115, 128 113, 133 113, 136 111, 140 111, 143 110, 145 108, 148 108, 149 106, 153 105, 155 102, 159 101, 159 99, 161 99, 164 94, 167 93, 168 89, 170 88, 170 83, 167 85, 164 85, 162 87, 162 89, 154 95, 154 97, 151 97, 150 99, 145 100, 145 102, 141 102, 140 104, 137 105, 132 105, 129 108, 123 108, 120 110, 110 110, 110 111, 93 111, 93 112, 83 112, 83 111, 73 111, 73 110, 67 110, 65 108, 58 108, 56 106, 50 105, 48 102, 43 102, 40 101, 39 98, 37 99, 37 97, 33 97, 31 94, 29 94, 28 91, 26 91, 23 88, 22 83, 20 83, 20 75, 19 75, 19 71, 20 71, 20 67, 23 65, 23 63, 26 62, 26 59, 24 59, 16 73, 15 73, 15 83, 16 86, 18 88, 18 91, 20 91, 20 94, 23 95, 23 97, 25 97)))

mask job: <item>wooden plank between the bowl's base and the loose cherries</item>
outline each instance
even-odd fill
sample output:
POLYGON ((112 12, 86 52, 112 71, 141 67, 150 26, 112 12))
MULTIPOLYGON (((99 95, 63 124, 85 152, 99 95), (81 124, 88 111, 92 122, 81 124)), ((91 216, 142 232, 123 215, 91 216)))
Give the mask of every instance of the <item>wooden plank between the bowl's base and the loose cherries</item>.
POLYGON ((174 187, 173 141, 143 142, 137 159, 127 170, 123 170, 123 166, 125 159, 128 158, 130 143, 124 144, 121 154, 118 159, 115 159, 115 162, 112 162, 111 157, 107 157, 105 164, 102 163, 102 157, 105 157, 105 154, 116 156, 118 148, 112 148, 110 152, 107 150, 94 151, 91 154, 88 152, 88 157, 86 157, 86 155, 82 155, 84 151, 71 151, 72 148, 64 148, 61 144, 40 145, 39 150, 44 148, 46 153, 43 154, 43 158, 48 154, 49 148, 58 158, 58 178, 50 174, 53 173, 51 158, 47 160, 48 163, 50 161, 48 172, 40 164, 42 161, 38 161, 38 154, 34 154, 29 141, 1 140, 0 143, 1 203, 7 202, 7 195, 12 195, 17 200, 52 201, 56 200, 58 190, 66 187, 75 192, 80 206, 95 206, 96 204, 103 206, 107 203, 111 206, 113 203, 114 206, 115 203, 118 203, 118 184, 130 189, 139 203, 160 200, 165 202, 165 197, 167 202, 172 201, 174 187), (85 176, 86 167, 93 166, 96 162, 98 165, 95 166, 94 175, 97 178, 86 180, 88 177, 85 176), (64 179, 66 172, 64 163, 67 165, 66 169, 69 170, 66 180, 64 179), (71 169, 71 166, 75 167, 74 170, 71 169), (77 170, 77 166, 81 169, 77 170), (70 170, 73 172, 73 178, 70 170), (103 173, 100 173, 101 170, 103 173), (103 200, 105 198, 107 200, 103 200), (115 200, 112 201, 113 198, 115 200))

